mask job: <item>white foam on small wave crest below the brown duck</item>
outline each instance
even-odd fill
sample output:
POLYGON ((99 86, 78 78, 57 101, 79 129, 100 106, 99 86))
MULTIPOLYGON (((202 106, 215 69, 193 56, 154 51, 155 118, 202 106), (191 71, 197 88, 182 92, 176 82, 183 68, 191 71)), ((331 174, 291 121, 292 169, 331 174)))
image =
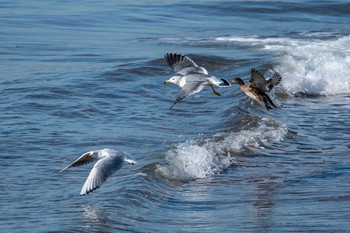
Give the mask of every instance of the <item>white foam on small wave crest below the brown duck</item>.
POLYGON ((179 143, 167 152, 167 164, 159 165, 158 171, 170 179, 205 178, 237 163, 230 154, 252 147, 263 150, 265 145, 281 141, 286 134, 285 126, 263 118, 249 130, 219 133, 204 140, 179 143))

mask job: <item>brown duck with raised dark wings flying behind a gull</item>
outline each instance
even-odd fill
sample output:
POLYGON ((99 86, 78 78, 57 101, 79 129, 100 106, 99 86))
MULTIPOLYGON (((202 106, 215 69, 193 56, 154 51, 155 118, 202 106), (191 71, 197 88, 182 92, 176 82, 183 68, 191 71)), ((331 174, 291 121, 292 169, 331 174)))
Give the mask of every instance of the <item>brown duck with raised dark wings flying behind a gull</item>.
POLYGON ((245 85, 243 80, 235 78, 232 83, 239 84, 241 90, 250 98, 265 106, 267 110, 277 108, 271 98, 266 94, 272 90, 282 79, 280 73, 275 72, 271 79, 265 80, 264 76, 256 69, 251 69, 250 85, 245 85))

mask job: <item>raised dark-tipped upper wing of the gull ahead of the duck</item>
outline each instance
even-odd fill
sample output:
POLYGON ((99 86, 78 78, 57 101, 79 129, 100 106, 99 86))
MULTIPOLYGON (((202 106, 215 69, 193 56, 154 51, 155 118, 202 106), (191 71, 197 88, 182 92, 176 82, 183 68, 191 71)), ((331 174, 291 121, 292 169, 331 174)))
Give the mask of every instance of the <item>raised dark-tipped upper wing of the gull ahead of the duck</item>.
POLYGON ((176 53, 167 53, 164 56, 164 59, 176 73, 181 75, 187 75, 190 73, 208 74, 208 71, 205 68, 198 66, 187 56, 176 53))

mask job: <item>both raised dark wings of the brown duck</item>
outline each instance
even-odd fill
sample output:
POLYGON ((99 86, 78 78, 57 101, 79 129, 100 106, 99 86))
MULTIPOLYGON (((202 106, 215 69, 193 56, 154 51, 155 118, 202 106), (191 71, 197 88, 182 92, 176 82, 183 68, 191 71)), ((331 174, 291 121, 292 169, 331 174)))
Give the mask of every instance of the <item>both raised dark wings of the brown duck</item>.
POLYGON ((264 92, 270 92, 277 84, 282 80, 282 75, 275 71, 270 79, 264 78, 264 75, 256 69, 251 70, 250 85, 254 88, 263 90, 264 92))

